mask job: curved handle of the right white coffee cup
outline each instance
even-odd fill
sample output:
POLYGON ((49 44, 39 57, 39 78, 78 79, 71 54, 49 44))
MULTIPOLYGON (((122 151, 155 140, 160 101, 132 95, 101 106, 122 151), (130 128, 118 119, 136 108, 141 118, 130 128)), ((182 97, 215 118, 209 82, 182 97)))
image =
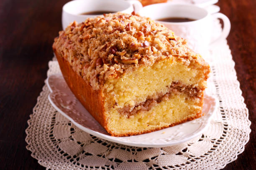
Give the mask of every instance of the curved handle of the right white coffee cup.
POLYGON ((228 17, 222 13, 214 13, 212 14, 213 19, 222 19, 223 20, 223 30, 220 34, 220 36, 218 38, 216 38, 215 40, 212 40, 212 42, 210 43, 210 45, 215 44, 215 42, 217 42, 218 40, 221 39, 226 39, 226 37, 228 37, 228 34, 230 32, 230 20, 228 19, 228 17))

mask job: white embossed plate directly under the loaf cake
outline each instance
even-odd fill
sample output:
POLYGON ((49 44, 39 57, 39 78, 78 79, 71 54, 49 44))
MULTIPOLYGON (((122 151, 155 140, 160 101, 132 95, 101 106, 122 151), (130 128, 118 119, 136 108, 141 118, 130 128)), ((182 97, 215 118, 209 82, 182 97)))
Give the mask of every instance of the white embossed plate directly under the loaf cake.
POLYGON ((74 125, 98 138, 123 145, 155 148, 184 143, 202 134, 218 107, 218 100, 205 94, 202 110, 205 115, 200 118, 143 135, 113 137, 77 100, 61 74, 51 75, 46 82, 51 91, 48 96, 51 105, 74 125))

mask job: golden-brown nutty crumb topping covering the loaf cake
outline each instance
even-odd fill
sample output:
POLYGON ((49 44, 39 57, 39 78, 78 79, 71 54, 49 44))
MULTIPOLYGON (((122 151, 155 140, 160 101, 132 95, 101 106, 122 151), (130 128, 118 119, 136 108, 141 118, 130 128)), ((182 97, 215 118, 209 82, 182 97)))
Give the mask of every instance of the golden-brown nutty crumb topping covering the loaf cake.
POLYGON ((151 66, 166 57, 189 65, 199 57, 164 25, 120 12, 71 23, 53 46, 94 90, 140 65, 151 66))

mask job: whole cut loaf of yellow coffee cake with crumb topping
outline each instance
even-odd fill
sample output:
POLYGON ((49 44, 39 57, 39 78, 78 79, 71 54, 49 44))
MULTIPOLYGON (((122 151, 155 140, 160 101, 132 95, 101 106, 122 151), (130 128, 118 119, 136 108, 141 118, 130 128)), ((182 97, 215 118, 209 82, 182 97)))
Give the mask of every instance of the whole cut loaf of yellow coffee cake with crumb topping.
POLYGON ((53 50, 74 95, 113 136, 202 116, 209 65, 150 18, 115 13, 74 22, 53 50))

